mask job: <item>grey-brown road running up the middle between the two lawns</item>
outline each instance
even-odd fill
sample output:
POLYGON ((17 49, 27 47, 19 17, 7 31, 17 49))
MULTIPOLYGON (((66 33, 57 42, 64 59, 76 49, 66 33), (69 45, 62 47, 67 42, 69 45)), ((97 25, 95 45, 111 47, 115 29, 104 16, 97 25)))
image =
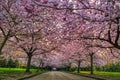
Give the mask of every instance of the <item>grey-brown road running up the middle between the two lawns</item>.
POLYGON ((59 71, 51 71, 26 80, 95 80, 95 79, 59 71))

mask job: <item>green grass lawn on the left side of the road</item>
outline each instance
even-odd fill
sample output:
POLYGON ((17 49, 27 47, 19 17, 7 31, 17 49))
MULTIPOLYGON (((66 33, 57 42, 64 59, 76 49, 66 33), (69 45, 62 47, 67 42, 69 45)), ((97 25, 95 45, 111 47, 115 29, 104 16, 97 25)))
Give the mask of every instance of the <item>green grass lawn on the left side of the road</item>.
POLYGON ((0 68, 0 80, 17 80, 35 74, 36 69, 31 69, 31 72, 25 73, 25 69, 22 68, 0 68))

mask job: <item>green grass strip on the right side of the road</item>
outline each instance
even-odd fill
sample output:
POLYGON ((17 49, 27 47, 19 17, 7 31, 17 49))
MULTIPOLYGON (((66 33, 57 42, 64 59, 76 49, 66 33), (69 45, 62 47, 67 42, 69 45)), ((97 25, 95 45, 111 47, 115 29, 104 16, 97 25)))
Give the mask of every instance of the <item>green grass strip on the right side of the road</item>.
MULTIPOLYGON (((76 73, 76 71, 74 72, 76 73)), ((83 75, 100 77, 107 80, 120 80, 120 72, 103 72, 103 71, 94 71, 94 75, 90 75, 89 71, 81 71, 83 75)))

